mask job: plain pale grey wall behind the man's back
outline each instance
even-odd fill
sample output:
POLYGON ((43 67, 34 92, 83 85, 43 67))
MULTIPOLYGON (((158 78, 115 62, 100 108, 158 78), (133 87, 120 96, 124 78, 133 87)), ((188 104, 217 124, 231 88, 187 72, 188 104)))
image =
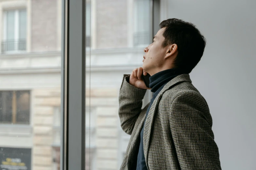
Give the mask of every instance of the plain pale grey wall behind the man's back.
POLYGON ((222 169, 256 169, 256 1, 161 3, 161 21, 192 22, 206 37, 204 55, 190 76, 210 107, 222 169))

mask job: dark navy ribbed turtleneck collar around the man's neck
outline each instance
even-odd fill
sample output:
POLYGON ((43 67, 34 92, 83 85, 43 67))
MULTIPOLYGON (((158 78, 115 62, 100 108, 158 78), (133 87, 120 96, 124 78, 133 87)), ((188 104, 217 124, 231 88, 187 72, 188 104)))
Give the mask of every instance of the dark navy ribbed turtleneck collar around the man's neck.
POLYGON ((168 83, 171 79, 181 74, 176 68, 160 71, 149 77, 149 88, 151 92, 156 92, 162 85, 168 83))

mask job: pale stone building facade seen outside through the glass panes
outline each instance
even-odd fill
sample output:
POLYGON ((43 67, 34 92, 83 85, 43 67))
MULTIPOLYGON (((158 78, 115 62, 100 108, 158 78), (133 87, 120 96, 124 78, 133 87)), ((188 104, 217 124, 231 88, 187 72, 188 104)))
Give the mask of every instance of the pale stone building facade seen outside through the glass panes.
MULTIPOLYGON (((89 160, 93 170, 119 169, 128 145, 129 135, 121 130, 118 118, 119 89, 123 74, 141 66, 143 49, 149 44, 147 28, 144 38, 134 36, 141 23, 134 20, 135 11, 143 8, 137 1, 147 4, 143 0, 87 1, 91 10, 87 28, 91 34, 86 34, 91 37, 91 56, 89 47, 86 55, 87 61, 91 57, 90 84, 89 68, 86 73, 86 149, 91 153, 86 155, 87 169, 89 160), (135 39, 140 40, 136 46, 135 39)), ((0 103, 10 95, 8 104, 0 104, 5 108, 0 111, 0 148, 31 149, 30 157, 13 155, 27 161, 28 170, 59 170, 61 0, 1 0, 0 28, 0 103), (23 103, 16 93, 25 91, 29 108, 21 112, 23 103), (18 122, 25 112, 28 116, 18 122)), ((149 101, 147 95, 143 105, 149 101)))

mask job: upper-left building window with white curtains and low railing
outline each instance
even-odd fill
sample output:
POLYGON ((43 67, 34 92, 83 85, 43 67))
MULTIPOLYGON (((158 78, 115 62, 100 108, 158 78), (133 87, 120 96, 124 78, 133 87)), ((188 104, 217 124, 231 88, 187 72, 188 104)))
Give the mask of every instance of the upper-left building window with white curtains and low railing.
POLYGON ((4 11, 2 53, 26 50, 26 9, 4 11))

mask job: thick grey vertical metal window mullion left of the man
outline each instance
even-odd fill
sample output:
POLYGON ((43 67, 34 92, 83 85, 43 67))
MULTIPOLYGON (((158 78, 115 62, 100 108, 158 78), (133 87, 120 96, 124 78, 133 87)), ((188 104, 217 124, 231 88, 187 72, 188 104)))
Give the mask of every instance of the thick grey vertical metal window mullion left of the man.
POLYGON ((67 170, 85 169, 85 1, 68 0, 67 170))

